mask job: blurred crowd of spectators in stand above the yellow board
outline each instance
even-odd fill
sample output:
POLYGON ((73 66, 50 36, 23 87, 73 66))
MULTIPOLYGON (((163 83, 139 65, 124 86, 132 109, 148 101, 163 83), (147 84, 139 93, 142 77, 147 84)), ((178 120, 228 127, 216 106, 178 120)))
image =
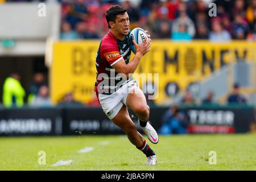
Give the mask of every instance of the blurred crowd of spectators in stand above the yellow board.
POLYGON ((231 39, 256 40, 256 0, 59 0, 58 2, 61 3, 60 38, 66 40, 102 38, 108 32, 105 11, 116 4, 122 5, 127 10, 131 30, 142 27, 150 32, 152 39, 207 39, 213 42, 228 42, 231 39), (217 5, 216 11, 212 6, 209 8, 209 3, 212 2, 217 5), (216 16, 210 17, 214 12, 216 16))

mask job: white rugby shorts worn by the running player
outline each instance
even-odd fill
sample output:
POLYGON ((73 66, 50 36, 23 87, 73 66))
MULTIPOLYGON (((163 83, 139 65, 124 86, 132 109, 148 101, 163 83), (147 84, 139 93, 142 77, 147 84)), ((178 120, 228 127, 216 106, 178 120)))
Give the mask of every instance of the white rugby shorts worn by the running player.
POLYGON ((127 82, 111 95, 98 94, 98 100, 100 101, 101 107, 109 119, 113 119, 122 106, 126 105, 127 96, 133 89, 139 89, 135 80, 127 82))

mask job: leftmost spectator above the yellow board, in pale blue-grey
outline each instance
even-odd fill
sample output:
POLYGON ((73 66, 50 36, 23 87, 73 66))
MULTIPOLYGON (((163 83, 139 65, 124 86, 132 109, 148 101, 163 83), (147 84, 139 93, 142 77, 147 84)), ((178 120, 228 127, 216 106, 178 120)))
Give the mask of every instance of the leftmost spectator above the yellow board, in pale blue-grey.
POLYGON ((61 24, 61 34, 60 39, 63 40, 75 40, 80 39, 79 34, 76 31, 73 31, 71 25, 68 22, 63 22, 61 24))

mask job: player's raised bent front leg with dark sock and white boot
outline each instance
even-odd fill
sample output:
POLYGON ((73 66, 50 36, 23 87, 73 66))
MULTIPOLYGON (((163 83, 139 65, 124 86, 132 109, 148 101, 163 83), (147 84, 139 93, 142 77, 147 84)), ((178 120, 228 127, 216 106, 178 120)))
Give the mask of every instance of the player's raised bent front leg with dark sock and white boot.
POLYGON ((147 101, 142 90, 131 90, 126 98, 126 105, 137 114, 139 125, 147 135, 147 138, 150 139, 152 143, 158 143, 158 134, 150 123, 148 123, 150 107, 147 105, 147 101))

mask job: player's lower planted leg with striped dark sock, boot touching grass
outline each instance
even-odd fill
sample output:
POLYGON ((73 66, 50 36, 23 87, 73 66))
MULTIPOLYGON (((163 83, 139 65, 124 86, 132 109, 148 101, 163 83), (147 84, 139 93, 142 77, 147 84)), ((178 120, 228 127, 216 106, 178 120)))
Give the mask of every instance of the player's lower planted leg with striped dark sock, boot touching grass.
POLYGON ((121 127, 123 131, 127 134, 130 142, 133 143, 139 150, 141 150, 147 156, 148 165, 156 164, 155 152, 152 151, 150 146, 148 146, 146 140, 142 135, 137 131, 136 126, 130 118, 127 107, 122 106, 118 114, 112 119, 115 125, 121 127))

